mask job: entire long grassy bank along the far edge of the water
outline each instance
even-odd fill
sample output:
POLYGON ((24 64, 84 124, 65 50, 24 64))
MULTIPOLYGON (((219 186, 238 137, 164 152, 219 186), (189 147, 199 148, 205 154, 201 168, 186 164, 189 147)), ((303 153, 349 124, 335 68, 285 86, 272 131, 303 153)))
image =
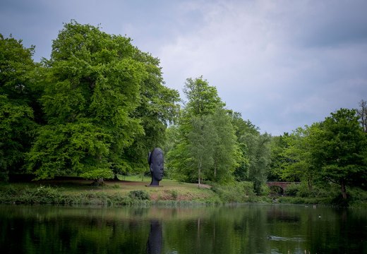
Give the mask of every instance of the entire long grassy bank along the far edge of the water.
MULTIPOLYGON (((165 179, 160 187, 148 187, 150 181, 129 177, 124 181, 105 181, 92 186, 92 181, 66 178, 62 180, 0 183, 0 203, 55 205, 220 205, 227 203, 283 203, 330 205, 330 198, 300 198, 278 195, 256 196, 246 184, 207 186, 179 183, 165 179)), ((366 205, 359 200, 356 206, 366 205)), ((352 204, 353 205, 353 204, 352 204)))

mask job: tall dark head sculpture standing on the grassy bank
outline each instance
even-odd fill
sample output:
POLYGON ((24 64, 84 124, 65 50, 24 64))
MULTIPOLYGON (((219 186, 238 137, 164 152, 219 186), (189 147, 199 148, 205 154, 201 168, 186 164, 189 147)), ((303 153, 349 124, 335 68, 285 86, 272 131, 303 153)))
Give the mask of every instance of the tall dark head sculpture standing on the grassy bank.
POLYGON ((159 186, 164 170, 163 152, 160 148, 155 148, 149 153, 148 164, 150 174, 152 174, 152 182, 150 183, 150 186, 159 186))

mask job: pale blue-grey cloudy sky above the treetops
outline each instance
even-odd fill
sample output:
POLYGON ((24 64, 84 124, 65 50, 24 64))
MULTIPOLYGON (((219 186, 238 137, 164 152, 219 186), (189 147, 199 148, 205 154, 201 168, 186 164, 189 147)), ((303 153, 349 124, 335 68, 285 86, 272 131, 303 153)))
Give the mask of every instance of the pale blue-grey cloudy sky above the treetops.
POLYGON ((127 35, 168 87, 203 75, 227 108, 281 135, 367 100, 367 1, 1 0, 0 33, 49 58, 63 23, 127 35))

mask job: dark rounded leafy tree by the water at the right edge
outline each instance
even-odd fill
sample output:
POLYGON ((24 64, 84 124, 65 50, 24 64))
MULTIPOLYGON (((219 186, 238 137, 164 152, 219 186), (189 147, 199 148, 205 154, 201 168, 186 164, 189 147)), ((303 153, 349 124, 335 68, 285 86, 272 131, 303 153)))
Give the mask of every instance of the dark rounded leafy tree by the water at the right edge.
POLYGON ((339 109, 325 118, 314 140, 312 156, 327 181, 340 186, 347 199, 347 186, 364 186, 367 182, 367 136, 354 109, 339 109))

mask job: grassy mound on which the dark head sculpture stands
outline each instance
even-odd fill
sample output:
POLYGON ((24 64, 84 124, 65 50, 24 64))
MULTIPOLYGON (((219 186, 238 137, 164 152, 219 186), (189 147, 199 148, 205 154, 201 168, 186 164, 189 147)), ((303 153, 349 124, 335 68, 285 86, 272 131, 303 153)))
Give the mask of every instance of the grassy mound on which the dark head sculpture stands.
POLYGON ((83 179, 0 183, 0 203, 53 203, 72 205, 205 204, 221 202, 210 188, 165 179, 160 187, 147 187, 150 179, 127 176, 95 187, 83 179), (136 181, 138 180, 138 181, 136 181), (143 198, 142 198, 143 197, 143 198))

